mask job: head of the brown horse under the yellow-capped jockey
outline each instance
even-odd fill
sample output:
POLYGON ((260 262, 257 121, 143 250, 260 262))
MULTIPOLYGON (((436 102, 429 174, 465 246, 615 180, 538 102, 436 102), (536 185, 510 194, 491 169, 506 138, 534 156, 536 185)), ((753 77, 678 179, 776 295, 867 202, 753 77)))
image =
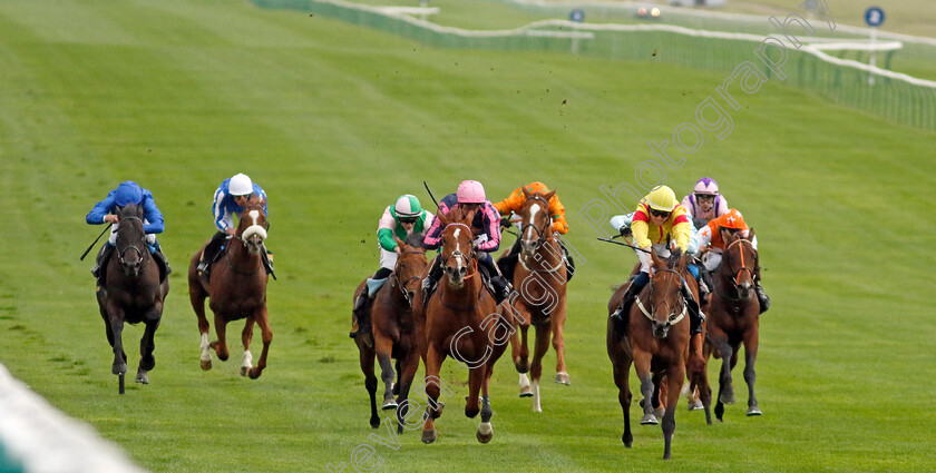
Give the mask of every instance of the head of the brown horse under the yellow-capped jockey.
MULTIPOLYGON (((670 327, 680 323, 686 315, 685 300, 682 296, 685 255, 676 249, 670 258, 662 259, 651 248, 653 270, 650 278, 651 313, 644 312, 653 327, 653 336, 666 338, 670 327)), ((641 307, 643 311, 643 307, 641 307)))

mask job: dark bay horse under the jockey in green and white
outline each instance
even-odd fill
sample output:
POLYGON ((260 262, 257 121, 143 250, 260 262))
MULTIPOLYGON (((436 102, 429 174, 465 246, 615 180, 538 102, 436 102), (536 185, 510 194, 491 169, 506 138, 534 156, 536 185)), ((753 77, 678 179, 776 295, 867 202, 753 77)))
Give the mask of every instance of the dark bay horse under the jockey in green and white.
MULTIPOLYGON (((421 275, 429 265, 426 260, 426 250, 420 245, 421 240, 421 234, 410 235, 407 238, 409 244, 397 240, 400 248, 397 265, 384 284, 387 287, 377 293, 370 307, 373 346, 369 346, 363 336, 354 338, 360 353, 361 371, 364 373, 364 386, 370 395, 370 424, 373 428, 380 426, 380 417, 377 414, 374 356, 380 363, 380 377, 384 385, 382 406, 384 411, 394 410, 407 400, 419 367, 419 344, 416 341, 412 300, 419 293, 421 275), (396 374, 391 357, 397 358, 396 374), (396 385, 394 376, 397 377, 396 385), (399 396, 396 401, 394 393, 399 396)), ((367 282, 362 282, 354 290, 354 299, 364 290, 367 290, 367 282)), ((406 405, 401 407, 403 412, 400 413, 399 418, 406 418, 406 405)), ((398 431, 403 432, 402 422, 398 423, 398 431)))

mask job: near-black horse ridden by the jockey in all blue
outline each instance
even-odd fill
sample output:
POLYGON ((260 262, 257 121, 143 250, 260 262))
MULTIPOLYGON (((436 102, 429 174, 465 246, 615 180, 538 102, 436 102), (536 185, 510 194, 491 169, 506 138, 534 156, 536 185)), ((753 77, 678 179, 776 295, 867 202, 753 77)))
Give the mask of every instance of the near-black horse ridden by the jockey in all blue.
POLYGON ((107 342, 114 348, 110 372, 120 376, 120 394, 124 394, 123 380, 127 372, 124 323, 146 324, 139 341, 140 358, 136 382, 148 384, 147 373, 156 365, 156 358, 153 357, 156 349, 154 336, 163 318, 163 304, 169 293, 169 280, 160 280, 159 265, 147 248, 143 215, 144 208, 136 204, 117 207, 117 247, 105 268, 104 282, 97 288, 107 342))

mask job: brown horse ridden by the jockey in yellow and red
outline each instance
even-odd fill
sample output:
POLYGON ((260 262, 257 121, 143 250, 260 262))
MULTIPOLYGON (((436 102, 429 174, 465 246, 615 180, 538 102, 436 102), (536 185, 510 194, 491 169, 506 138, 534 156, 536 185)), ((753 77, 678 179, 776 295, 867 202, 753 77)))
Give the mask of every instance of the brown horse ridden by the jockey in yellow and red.
MULTIPOLYGON (((675 406, 680 386, 685 376, 685 361, 689 356, 690 321, 681 294, 685 272, 685 257, 676 250, 663 260, 651 249, 653 265, 650 283, 634 299, 626 321, 616 322, 608 317, 607 354, 614 366, 614 383, 617 400, 624 411, 624 434, 621 440, 628 449, 633 443, 631 433, 631 387, 628 372, 631 363, 641 381, 644 415, 643 425, 659 423, 653 412, 653 376, 662 374, 661 388, 665 414, 663 415, 663 459, 670 459, 670 446, 676 430, 675 406), (625 325, 626 324, 626 325, 625 325)), ((627 285, 620 287, 608 300, 608 314, 621 304, 627 285)))

